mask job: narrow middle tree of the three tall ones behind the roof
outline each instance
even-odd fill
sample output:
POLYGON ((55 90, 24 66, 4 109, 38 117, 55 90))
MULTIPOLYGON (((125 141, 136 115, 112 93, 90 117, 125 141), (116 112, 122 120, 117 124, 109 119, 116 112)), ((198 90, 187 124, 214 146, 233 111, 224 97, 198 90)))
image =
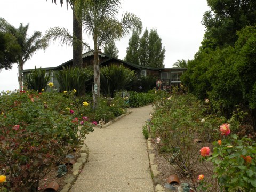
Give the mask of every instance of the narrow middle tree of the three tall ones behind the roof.
POLYGON ((148 66, 148 29, 146 28, 139 41, 139 63, 142 66, 148 66))

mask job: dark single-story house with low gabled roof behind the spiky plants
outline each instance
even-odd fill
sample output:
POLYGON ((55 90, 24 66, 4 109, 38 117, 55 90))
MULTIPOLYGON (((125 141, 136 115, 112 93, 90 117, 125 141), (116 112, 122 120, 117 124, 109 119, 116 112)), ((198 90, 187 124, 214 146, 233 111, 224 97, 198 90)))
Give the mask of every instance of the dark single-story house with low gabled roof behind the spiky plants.
MULTIPOLYGON (((91 66, 93 65, 93 50, 88 51, 82 55, 83 58, 83 67, 91 66)), ((42 68, 46 70, 46 75, 51 76, 51 79, 49 82, 52 82, 54 86, 58 89, 59 88, 59 83, 57 81, 57 78, 55 77, 54 71, 61 70, 63 66, 71 66, 73 60, 69 60, 65 63, 62 63, 59 66, 56 67, 46 67, 42 68), (49 71, 51 71, 49 74, 49 71)), ((154 75, 161 79, 162 81, 162 88, 169 88, 171 85, 178 86, 181 81, 180 81, 180 76, 187 70, 187 68, 152 68, 152 67, 146 67, 146 66, 141 66, 137 65, 134 63, 129 63, 126 61, 123 61, 118 58, 110 57, 109 55, 106 55, 105 53, 99 52, 99 62, 100 66, 108 66, 112 63, 116 65, 124 65, 125 67, 134 70, 136 77, 139 78, 141 75, 146 76, 146 75, 154 75)), ((25 77, 28 73, 30 73, 31 70, 34 69, 26 69, 23 70, 23 77, 25 77)))

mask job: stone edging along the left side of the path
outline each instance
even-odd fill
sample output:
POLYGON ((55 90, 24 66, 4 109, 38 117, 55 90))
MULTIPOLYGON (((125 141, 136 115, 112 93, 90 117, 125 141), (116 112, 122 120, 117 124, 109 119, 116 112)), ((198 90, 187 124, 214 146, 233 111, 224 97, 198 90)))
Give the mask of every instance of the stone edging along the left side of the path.
MULTIPOLYGON (((119 119, 121 119, 122 117, 124 117, 130 113, 132 113, 132 111, 126 112, 126 113, 112 119, 105 125, 97 124, 96 127, 106 128, 109 125, 113 124, 114 122, 118 121, 119 119)), ((68 192, 70 190, 71 186, 74 184, 74 182, 78 178, 78 175, 81 173, 85 163, 88 161, 89 149, 87 148, 86 144, 83 144, 83 146, 81 147, 81 149, 79 151, 80 151, 80 157, 76 160, 76 163, 73 164, 73 167, 72 167, 73 173, 67 175, 66 179, 64 180, 66 185, 60 190, 60 192, 68 192)))

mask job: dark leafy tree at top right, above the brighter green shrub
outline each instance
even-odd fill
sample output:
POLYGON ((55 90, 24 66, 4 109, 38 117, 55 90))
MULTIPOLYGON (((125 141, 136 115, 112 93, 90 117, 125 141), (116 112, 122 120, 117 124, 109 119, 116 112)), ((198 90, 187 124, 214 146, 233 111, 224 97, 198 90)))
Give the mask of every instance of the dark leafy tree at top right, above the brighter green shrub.
POLYGON ((234 45, 236 31, 256 23, 256 2, 254 0, 227 1, 207 0, 211 11, 206 11, 203 25, 206 28, 204 44, 213 49, 234 45))

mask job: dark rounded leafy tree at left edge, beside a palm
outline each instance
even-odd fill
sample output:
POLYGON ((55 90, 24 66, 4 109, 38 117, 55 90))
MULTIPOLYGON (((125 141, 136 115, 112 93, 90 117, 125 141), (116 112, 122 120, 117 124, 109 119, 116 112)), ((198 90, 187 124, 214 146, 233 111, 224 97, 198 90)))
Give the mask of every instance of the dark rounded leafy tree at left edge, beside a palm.
POLYGON ((17 62, 20 52, 17 39, 10 33, 0 32, 0 71, 12 69, 12 64, 17 62))

